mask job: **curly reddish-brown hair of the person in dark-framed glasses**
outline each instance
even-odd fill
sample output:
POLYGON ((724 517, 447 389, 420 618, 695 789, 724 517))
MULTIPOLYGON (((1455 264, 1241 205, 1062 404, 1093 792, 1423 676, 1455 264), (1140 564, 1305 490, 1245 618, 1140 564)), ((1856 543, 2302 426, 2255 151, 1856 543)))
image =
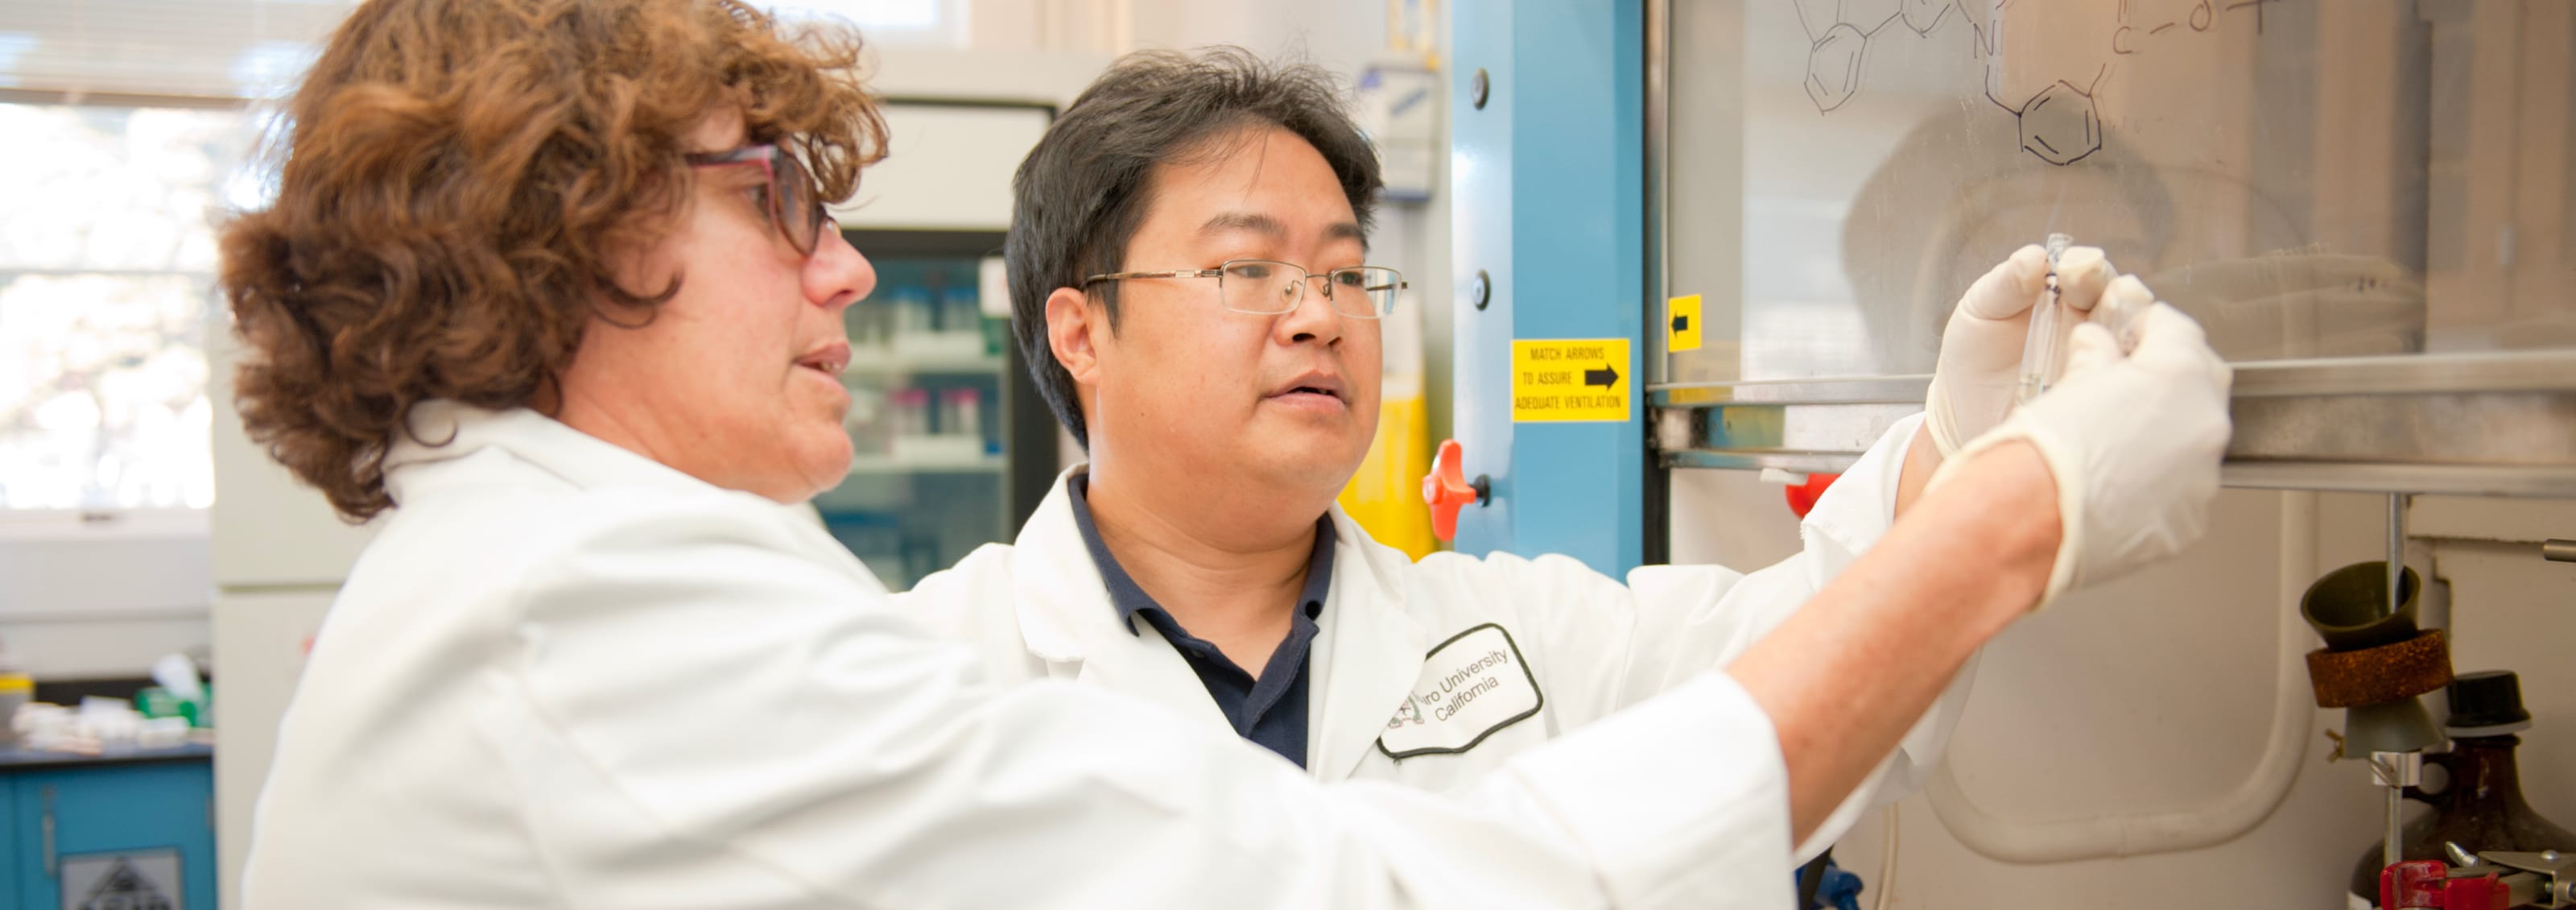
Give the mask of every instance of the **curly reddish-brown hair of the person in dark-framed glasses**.
POLYGON ((343 518, 392 508, 412 405, 541 405, 600 302, 677 291, 611 266, 677 224, 708 113, 848 198, 886 150, 858 64, 737 0, 368 0, 286 103, 276 204, 222 229, 245 431, 343 518))

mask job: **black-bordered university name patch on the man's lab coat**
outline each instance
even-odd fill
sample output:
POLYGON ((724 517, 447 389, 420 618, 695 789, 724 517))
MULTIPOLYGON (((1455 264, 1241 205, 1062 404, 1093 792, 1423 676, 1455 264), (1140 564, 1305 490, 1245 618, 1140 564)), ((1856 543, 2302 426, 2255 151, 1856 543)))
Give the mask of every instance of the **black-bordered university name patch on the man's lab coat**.
POLYGON ((1538 714, 1546 696, 1520 660, 1520 644, 1497 624, 1458 632, 1422 657, 1422 678, 1386 719, 1378 750, 1386 758, 1466 753, 1497 730, 1538 714))

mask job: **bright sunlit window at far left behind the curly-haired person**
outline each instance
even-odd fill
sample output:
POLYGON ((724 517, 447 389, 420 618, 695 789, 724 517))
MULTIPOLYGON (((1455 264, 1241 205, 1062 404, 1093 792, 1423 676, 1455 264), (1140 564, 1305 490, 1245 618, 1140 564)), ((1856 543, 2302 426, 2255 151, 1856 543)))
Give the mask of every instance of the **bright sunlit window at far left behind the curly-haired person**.
POLYGON ((0 508, 206 508, 242 111, 0 103, 0 508))

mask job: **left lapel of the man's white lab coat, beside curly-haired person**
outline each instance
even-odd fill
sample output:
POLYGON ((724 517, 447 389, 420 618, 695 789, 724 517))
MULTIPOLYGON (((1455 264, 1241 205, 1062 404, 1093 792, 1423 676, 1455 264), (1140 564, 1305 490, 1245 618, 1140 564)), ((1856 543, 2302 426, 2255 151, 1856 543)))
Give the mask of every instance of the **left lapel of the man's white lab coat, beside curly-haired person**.
POLYGON ((1051 665, 1077 665, 1084 683, 1162 704, 1234 735, 1226 712, 1180 650, 1151 626, 1131 632, 1110 606, 1064 490, 1064 479, 1082 469, 1056 477, 1010 549, 1012 601, 1028 652, 1051 665))

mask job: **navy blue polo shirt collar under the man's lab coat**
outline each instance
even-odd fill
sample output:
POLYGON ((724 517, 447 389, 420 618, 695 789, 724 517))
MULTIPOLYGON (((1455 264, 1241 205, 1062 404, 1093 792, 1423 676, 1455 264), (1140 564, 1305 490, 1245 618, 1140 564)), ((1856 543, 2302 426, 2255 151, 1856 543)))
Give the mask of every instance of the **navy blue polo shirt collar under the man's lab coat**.
POLYGON ((1092 565, 1100 567, 1100 580, 1110 590, 1110 606, 1118 608, 1118 619, 1126 619, 1128 632, 1136 629, 1136 616, 1144 616, 1164 639, 1180 650, 1180 657, 1198 670, 1198 683, 1208 686, 1208 696, 1216 706, 1226 712, 1234 722, 1234 732, 1244 740, 1260 742, 1262 748, 1285 755, 1298 768, 1306 766, 1306 655, 1314 652, 1314 621, 1324 616, 1324 593, 1332 590, 1332 516, 1314 521, 1314 554, 1306 557, 1306 590, 1298 590, 1298 611, 1288 616, 1288 639, 1270 652, 1270 665, 1255 681, 1252 673, 1234 665, 1226 652, 1216 650, 1206 639, 1182 629, 1154 595, 1144 593, 1123 567, 1110 547, 1100 541, 1100 528, 1092 523, 1092 477, 1074 474, 1064 482, 1074 500, 1074 526, 1082 528, 1082 547, 1092 549, 1092 565))

